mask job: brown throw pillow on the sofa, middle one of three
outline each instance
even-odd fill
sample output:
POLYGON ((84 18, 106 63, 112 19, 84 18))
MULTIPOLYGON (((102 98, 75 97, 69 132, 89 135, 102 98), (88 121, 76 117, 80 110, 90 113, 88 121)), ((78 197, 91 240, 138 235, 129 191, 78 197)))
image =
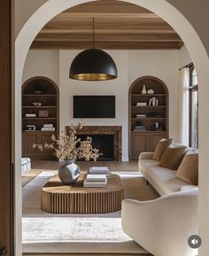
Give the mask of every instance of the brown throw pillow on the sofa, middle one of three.
POLYGON ((186 152, 186 146, 171 144, 160 159, 159 166, 177 170, 186 152))

